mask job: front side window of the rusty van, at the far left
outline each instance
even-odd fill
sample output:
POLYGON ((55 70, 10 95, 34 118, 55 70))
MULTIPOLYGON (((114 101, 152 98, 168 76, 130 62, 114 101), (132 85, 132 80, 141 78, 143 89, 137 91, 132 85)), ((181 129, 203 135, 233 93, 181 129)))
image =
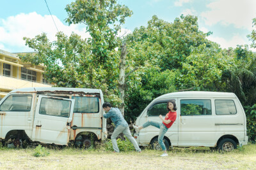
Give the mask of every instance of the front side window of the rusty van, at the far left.
POLYGON ((0 106, 1 111, 30 111, 31 94, 12 94, 0 106))

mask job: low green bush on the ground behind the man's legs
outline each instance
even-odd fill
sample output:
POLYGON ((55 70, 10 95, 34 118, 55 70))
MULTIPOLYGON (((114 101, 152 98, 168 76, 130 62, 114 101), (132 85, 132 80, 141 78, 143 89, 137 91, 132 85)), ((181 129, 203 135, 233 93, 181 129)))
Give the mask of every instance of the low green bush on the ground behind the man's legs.
MULTIPOLYGON (((125 140, 122 141, 122 139, 117 139, 116 140, 117 146, 120 150, 120 152, 127 152, 127 151, 133 151, 134 146, 132 143, 125 137, 125 140)), ((111 150, 113 151, 113 146, 112 146, 112 141, 109 139, 106 143, 106 150, 111 150)))

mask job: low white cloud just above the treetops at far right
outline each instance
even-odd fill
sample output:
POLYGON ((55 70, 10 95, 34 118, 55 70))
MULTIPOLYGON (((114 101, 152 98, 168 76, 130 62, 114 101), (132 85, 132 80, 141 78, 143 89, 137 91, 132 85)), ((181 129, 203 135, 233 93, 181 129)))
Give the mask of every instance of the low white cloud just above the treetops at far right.
MULTIPOLYGON (((239 35, 234 35, 230 40, 227 40, 221 37, 212 36, 212 35, 207 37, 207 39, 218 43, 221 46, 221 48, 228 48, 228 47, 236 48, 237 45, 250 44, 250 42, 248 42, 248 39, 243 39, 239 35)), ((252 50, 253 52, 256 51, 255 48, 249 48, 249 50, 252 50)))

